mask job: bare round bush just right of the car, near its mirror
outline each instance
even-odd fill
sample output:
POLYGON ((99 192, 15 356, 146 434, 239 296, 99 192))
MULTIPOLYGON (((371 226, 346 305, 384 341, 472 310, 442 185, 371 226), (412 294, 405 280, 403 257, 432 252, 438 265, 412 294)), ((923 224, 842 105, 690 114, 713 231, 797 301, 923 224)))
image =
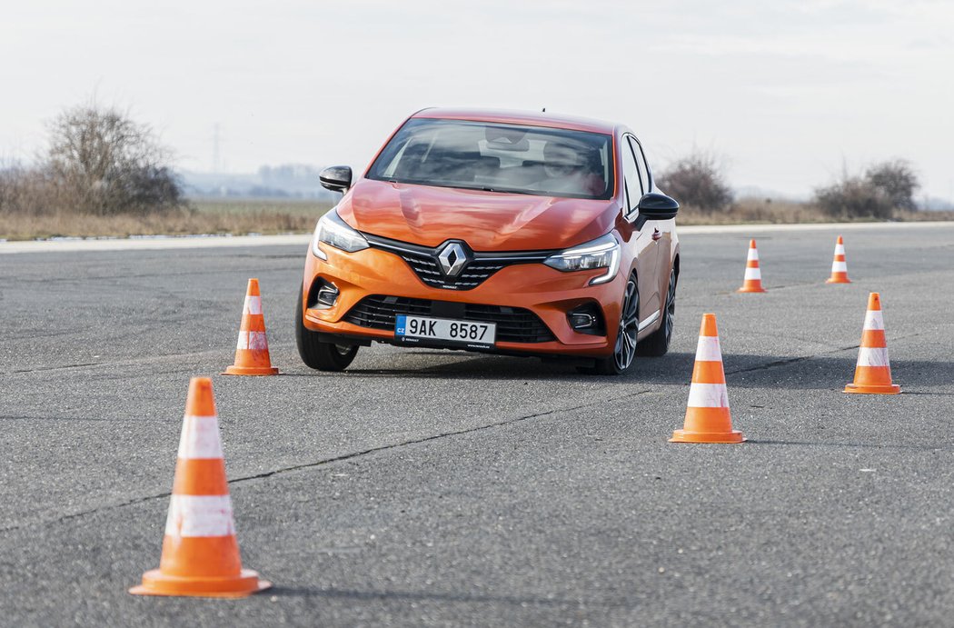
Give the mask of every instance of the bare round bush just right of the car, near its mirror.
POLYGON ((663 192, 680 203, 703 212, 722 209, 733 199, 718 157, 704 151, 676 160, 656 182, 663 192))

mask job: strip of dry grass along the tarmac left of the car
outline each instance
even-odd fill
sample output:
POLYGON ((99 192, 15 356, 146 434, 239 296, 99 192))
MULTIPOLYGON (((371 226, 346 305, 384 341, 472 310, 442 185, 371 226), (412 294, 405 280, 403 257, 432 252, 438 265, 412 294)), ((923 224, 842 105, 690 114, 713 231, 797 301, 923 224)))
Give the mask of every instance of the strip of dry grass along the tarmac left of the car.
POLYGON ((308 233, 329 207, 317 201, 241 199, 196 201, 188 209, 149 216, 0 213, 0 239, 308 233))

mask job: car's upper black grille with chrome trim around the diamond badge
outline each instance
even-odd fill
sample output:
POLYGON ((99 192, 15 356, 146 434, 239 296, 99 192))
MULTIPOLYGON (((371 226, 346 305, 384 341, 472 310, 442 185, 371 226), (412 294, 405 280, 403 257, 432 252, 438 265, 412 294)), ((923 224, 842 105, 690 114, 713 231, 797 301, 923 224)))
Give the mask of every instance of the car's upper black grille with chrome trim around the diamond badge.
MULTIPOLYGON (((471 252, 470 261, 460 274, 449 277, 437 262, 437 256, 447 242, 431 248, 370 234, 363 235, 372 248, 393 253, 404 260, 425 285, 445 290, 472 290, 505 266, 517 263, 541 263, 553 253, 553 251, 471 252)), ((464 242, 461 244, 465 245, 464 242)))

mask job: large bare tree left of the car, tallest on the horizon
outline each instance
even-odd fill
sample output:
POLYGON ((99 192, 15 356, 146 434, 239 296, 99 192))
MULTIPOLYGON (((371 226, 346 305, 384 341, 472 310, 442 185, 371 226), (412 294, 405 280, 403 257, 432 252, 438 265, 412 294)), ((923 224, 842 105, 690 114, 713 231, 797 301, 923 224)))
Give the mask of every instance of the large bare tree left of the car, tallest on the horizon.
POLYGON ((47 174, 75 211, 146 214, 183 205, 170 155, 152 129, 89 104, 50 124, 47 174))

